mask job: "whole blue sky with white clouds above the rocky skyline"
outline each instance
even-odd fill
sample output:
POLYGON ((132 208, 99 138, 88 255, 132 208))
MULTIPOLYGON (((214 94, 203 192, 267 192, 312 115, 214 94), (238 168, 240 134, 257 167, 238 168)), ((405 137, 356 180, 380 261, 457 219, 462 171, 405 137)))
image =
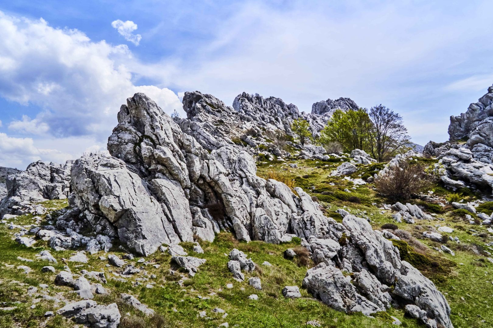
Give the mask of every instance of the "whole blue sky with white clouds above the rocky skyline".
POLYGON ((301 111, 327 98, 385 104, 413 141, 493 83, 490 1, 5 1, 0 166, 106 148, 125 99, 168 113, 187 90, 243 92, 301 111), (430 3, 432 2, 432 3, 430 3))

